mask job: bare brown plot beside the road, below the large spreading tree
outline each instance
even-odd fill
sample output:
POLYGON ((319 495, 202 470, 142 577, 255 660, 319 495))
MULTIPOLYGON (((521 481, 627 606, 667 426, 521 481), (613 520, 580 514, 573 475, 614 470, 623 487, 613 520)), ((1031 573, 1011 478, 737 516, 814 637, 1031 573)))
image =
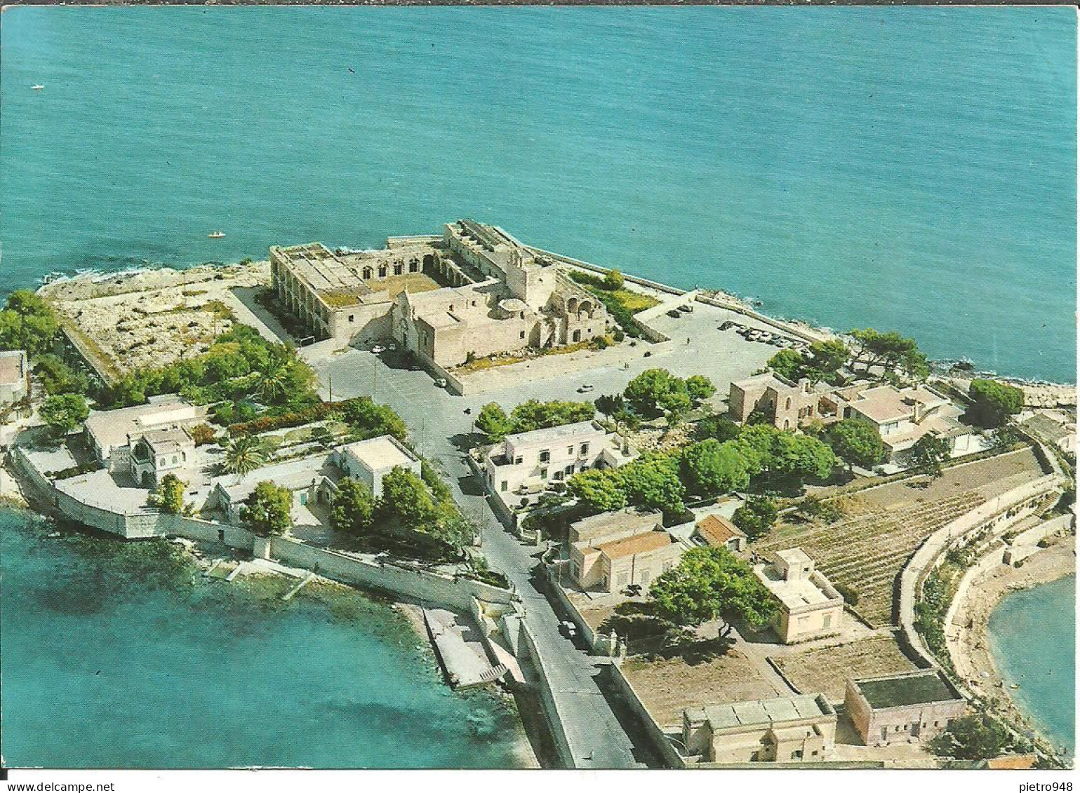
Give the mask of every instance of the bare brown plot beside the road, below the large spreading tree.
POLYGON ((685 708, 782 696, 784 691, 766 678, 760 666, 731 650, 694 665, 681 657, 630 658, 622 673, 657 724, 667 727, 683 724, 685 708))

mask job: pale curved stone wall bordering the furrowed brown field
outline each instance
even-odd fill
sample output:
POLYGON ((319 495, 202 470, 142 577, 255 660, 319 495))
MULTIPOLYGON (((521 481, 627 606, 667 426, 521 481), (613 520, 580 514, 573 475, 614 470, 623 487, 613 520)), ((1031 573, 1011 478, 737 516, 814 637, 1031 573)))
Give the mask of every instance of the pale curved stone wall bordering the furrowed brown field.
MULTIPOLYGON (((926 574, 936 564, 942 553, 948 549, 954 541, 974 533, 990 520, 1000 517, 1028 498, 1045 496, 1058 489, 1061 484, 1061 478, 1050 474, 995 496, 927 537, 904 565, 904 570, 900 574, 900 624, 906 643, 928 667, 936 668, 937 662, 927 648, 921 634, 915 630, 915 603, 918 600, 919 588, 922 586, 926 574)), ((1022 509, 1012 518, 999 521, 995 527, 995 535, 1003 534, 1012 523, 1023 517, 1026 517, 1026 511, 1022 509)))

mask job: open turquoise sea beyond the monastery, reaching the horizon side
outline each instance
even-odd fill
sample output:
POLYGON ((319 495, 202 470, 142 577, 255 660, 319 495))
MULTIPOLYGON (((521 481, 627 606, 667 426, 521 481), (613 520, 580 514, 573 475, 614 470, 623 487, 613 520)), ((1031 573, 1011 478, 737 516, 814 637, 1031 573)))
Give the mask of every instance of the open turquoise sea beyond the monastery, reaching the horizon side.
POLYGON ((896 328, 932 356, 1076 377, 1068 8, 14 8, 0 24, 0 290, 474 216, 781 315, 896 328))

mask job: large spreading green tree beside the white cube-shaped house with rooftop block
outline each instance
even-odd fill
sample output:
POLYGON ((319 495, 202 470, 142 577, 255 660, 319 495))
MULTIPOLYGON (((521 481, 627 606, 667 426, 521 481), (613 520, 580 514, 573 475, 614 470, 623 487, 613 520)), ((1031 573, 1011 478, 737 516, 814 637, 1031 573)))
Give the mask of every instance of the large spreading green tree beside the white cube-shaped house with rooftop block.
POLYGON ((649 601, 666 619, 698 626, 723 619, 744 619, 759 627, 768 624, 777 604, 751 566, 727 548, 691 548, 679 563, 657 578, 649 601))

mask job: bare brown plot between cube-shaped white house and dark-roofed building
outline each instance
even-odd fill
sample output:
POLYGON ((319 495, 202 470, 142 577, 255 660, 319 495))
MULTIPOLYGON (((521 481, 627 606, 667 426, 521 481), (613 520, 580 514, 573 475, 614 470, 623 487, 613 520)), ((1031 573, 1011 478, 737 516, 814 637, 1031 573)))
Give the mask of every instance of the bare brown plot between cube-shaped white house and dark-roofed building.
POLYGON ((916 669, 891 635, 774 656, 773 661, 800 692, 821 692, 831 702, 843 701, 847 678, 873 678, 916 669))

